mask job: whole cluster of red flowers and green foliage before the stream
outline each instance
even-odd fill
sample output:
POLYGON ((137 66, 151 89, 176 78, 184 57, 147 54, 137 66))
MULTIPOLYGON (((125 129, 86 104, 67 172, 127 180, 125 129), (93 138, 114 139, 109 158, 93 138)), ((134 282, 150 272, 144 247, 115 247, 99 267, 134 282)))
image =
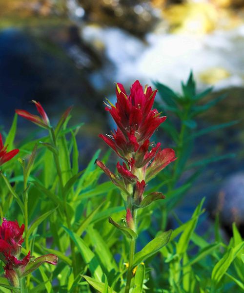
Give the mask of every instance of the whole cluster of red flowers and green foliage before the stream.
POLYGON ((110 152, 98 160, 100 150, 79 171, 76 135, 82 124, 68 126, 72 107, 56 126, 39 102, 33 101, 40 115, 16 110, 10 131, 2 132, 5 146, 0 135, 0 292, 244 290, 244 241, 235 223, 230 240, 217 220, 200 236, 196 227, 204 217, 204 199, 185 223, 173 210, 213 161, 189 163, 194 139, 236 122, 197 129, 194 117, 223 97, 198 104, 211 89, 196 93, 192 74, 182 95, 157 87, 164 102, 157 107, 175 114, 176 125, 153 108, 156 91, 138 81, 129 95, 116 84, 116 104, 105 102, 118 128, 100 137, 119 158, 115 172, 107 167, 110 152), (30 134, 16 149, 18 115, 44 128, 46 136, 30 134), (161 126, 174 150, 154 143, 161 126), (193 175, 179 186, 187 168, 193 175), (169 214, 179 223, 173 231, 166 229, 169 214))

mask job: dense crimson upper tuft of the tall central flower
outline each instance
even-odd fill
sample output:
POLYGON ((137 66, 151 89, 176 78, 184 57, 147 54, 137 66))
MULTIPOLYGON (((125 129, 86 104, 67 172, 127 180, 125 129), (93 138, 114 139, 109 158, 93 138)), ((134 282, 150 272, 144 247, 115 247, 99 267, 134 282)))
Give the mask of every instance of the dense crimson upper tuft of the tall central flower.
MULTIPOLYGON (((127 151, 124 153, 136 152, 140 145, 145 140, 149 140, 153 132, 160 126, 166 117, 160 117, 160 113, 156 109, 152 110, 152 105, 157 91, 152 91, 152 88, 145 87, 143 91, 142 85, 139 81, 132 84, 130 95, 127 96, 122 84, 116 84, 117 102, 114 105, 107 105, 105 110, 109 111, 115 123, 118 126, 117 132, 113 134, 113 139, 116 141, 117 133, 122 132, 124 138, 130 142, 126 145, 127 151), (132 135, 132 137, 131 137, 132 135), (133 146, 133 148, 130 148, 133 146)), ((120 134, 121 136, 121 134, 120 134)), ((104 139, 104 137, 102 137, 104 139)), ((118 143, 108 140, 104 141, 112 147, 121 157, 121 148, 118 143)))

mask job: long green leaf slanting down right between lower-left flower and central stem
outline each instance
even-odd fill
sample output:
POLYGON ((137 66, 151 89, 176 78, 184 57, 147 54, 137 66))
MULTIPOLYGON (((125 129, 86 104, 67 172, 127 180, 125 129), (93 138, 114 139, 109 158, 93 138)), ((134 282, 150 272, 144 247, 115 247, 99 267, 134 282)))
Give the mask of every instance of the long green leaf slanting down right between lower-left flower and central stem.
POLYGON ((84 242, 83 239, 81 239, 79 235, 77 235, 76 233, 72 232, 64 226, 62 227, 74 241, 75 245, 77 246, 77 249, 81 253, 83 260, 86 264, 88 264, 89 271, 91 272, 92 276, 97 281, 102 282, 103 272, 96 255, 90 250, 88 245, 84 242))

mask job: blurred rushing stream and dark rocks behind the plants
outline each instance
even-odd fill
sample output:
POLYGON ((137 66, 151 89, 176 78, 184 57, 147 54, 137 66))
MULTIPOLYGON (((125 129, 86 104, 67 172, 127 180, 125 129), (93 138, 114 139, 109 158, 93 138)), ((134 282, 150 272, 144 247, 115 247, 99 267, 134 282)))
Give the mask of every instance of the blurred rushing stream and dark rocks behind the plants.
MULTIPOLYGON (((242 225, 243 52, 244 0, 1 0, 1 130, 9 129, 15 108, 34 113, 31 100, 41 102, 53 124, 75 105, 72 124, 84 122, 78 135, 83 168, 98 147, 107 149, 97 135, 112 127, 102 101, 115 100, 113 83, 128 90, 139 79, 180 91, 193 70, 198 90, 214 85, 212 95, 227 94, 199 125, 240 122, 196 141, 195 157, 213 150, 236 157, 210 164, 192 198, 206 196, 209 214, 222 203, 225 224, 236 215, 242 225)), ((21 140, 36 126, 20 118, 18 129, 21 140)), ((160 140, 169 146, 163 133, 160 140)), ((184 221, 191 211, 182 207, 184 221)))

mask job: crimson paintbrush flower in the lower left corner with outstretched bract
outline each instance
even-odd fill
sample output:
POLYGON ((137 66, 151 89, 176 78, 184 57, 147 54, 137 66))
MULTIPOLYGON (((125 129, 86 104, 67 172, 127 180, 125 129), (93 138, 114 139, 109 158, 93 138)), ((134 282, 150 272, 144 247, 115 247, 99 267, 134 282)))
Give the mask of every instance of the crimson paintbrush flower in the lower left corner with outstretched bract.
POLYGON ((56 265, 58 261, 55 254, 46 254, 31 260, 33 256, 30 251, 23 259, 19 260, 18 256, 24 241, 23 232, 24 224, 20 227, 17 221, 7 221, 3 218, 2 225, 0 225, 0 259, 5 264, 3 267, 5 276, 15 287, 19 287, 21 277, 33 272, 42 263, 56 265))

